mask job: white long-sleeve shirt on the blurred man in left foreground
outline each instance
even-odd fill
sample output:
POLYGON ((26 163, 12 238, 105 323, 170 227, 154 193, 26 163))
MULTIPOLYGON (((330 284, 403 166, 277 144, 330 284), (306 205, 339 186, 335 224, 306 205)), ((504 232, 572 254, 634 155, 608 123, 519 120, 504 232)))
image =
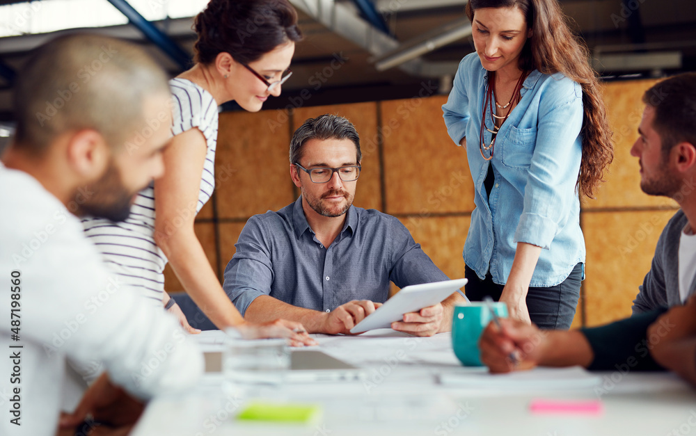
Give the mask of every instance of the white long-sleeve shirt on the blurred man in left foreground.
POLYGON ((104 362, 115 384, 143 399, 203 373, 200 350, 175 319, 109 272, 56 197, 2 165, 0 356, 1 435, 54 435, 66 357, 104 362))

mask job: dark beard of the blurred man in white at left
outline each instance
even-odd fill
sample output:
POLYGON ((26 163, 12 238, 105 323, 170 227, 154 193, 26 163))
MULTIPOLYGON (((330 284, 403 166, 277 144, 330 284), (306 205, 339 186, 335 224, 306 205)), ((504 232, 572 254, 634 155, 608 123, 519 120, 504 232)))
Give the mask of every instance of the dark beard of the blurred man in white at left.
POLYGON ((128 218, 135 193, 129 193, 122 185, 118 168, 113 161, 109 163, 109 168, 106 168, 102 178, 86 191, 90 194, 87 198, 75 195, 78 204, 77 216, 106 218, 115 223, 128 218))

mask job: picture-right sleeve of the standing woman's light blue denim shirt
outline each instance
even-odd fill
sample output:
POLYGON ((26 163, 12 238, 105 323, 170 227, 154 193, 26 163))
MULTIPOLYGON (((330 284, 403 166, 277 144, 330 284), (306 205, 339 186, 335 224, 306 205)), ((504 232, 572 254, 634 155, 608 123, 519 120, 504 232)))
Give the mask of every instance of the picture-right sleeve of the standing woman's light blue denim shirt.
POLYGON ((571 202, 578 201, 576 184, 582 159, 579 136, 583 127, 580 86, 569 79, 550 82, 551 89, 545 95, 552 97, 539 104, 537 139, 514 235, 514 243, 530 243, 547 250, 559 226, 567 220, 571 202))

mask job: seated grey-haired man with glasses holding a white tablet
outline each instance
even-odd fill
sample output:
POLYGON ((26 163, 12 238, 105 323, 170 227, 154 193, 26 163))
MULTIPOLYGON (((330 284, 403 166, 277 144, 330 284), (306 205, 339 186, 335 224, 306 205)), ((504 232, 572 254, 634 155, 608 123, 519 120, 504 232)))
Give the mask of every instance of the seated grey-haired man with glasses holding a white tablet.
MULTIPOLYGON (((290 177, 302 195, 277 212, 251 217, 223 285, 248 321, 279 316, 310 333, 348 333, 389 294, 448 280, 397 218, 352 206, 361 171, 360 138, 349 120, 307 120, 290 141, 290 177)), ((405 314, 392 328, 418 336, 448 331, 453 293, 405 314)))

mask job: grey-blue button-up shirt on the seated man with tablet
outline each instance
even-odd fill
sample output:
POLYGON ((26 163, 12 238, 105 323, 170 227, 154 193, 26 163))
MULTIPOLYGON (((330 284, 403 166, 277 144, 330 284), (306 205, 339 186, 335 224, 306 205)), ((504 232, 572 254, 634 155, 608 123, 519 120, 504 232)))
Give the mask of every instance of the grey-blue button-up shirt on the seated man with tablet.
POLYGON ((249 218, 235 247, 223 287, 242 315, 258 296, 331 312, 351 300, 385 302, 390 281, 404 287, 448 280, 397 218, 374 209, 351 206, 342 231, 324 247, 302 197, 249 218))

